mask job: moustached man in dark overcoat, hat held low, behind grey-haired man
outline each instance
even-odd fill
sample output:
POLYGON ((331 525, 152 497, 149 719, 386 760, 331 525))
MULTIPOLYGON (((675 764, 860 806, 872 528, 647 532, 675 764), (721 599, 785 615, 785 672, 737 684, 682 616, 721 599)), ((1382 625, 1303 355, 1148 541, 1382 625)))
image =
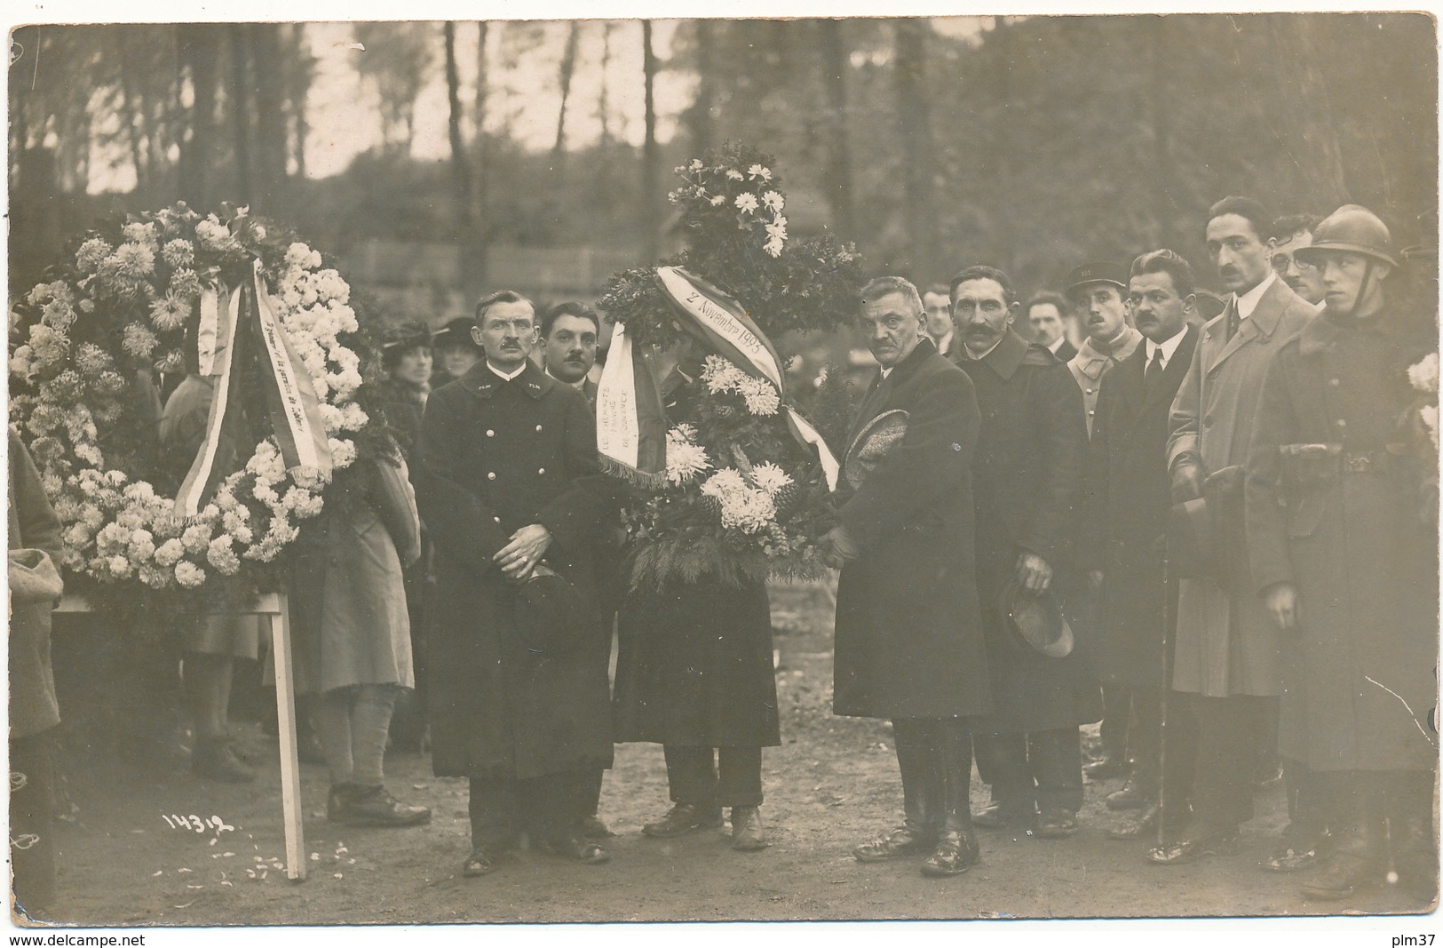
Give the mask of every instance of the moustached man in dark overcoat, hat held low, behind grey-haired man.
MULTIPOLYGON (((1066 365, 1012 330, 1017 300, 1007 276, 970 267, 952 277, 962 338, 957 364, 981 410, 973 499, 977 590, 987 632, 993 713, 974 727, 978 772, 991 778, 990 825, 1032 822, 1043 837, 1072 835, 1082 807, 1079 724, 1101 717, 1087 644, 1053 658, 1020 645, 1001 605, 1009 580, 1055 594, 1066 609, 1082 492, 1087 424, 1066 365)), ((978 820, 981 822, 981 818, 978 820)), ((986 824, 984 824, 986 825, 986 824)))

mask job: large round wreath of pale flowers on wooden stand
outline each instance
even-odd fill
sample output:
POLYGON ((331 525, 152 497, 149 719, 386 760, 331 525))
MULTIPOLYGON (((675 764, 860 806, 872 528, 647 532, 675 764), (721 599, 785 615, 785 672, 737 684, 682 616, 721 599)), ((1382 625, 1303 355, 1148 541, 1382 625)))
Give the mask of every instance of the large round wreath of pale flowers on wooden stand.
POLYGON ((267 434, 186 515, 162 463, 154 382, 186 372, 183 346, 195 346, 208 289, 260 273, 319 400, 330 469, 352 466, 375 447, 346 281, 244 208, 201 215, 177 203, 111 221, 72 247, 10 315, 10 421, 62 522, 69 587, 92 606, 162 613, 224 609, 274 587, 277 557, 320 512, 330 473, 287 469, 267 434))

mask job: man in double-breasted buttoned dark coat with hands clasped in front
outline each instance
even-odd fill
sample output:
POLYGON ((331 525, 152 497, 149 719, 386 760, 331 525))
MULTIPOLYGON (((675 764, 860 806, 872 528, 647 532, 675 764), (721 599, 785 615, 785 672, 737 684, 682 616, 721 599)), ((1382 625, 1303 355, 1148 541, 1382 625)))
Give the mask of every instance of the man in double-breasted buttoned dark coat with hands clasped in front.
POLYGON ((485 358, 436 390, 416 489, 437 550, 431 753, 470 778, 465 874, 496 867, 522 830, 573 859, 586 772, 609 766, 609 642, 596 615, 593 543, 612 511, 582 392, 527 355, 535 315, 515 293, 483 299, 485 358))

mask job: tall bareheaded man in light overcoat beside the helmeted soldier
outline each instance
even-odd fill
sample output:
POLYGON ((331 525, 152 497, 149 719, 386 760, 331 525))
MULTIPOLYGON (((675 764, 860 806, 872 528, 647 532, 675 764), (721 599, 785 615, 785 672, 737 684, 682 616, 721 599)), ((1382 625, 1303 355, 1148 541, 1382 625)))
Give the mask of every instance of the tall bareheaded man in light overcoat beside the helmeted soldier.
POLYGON ((1263 374, 1316 313, 1268 264, 1270 222, 1251 198, 1224 198, 1209 209, 1208 253, 1232 297, 1203 326, 1172 407, 1172 499, 1206 498, 1212 558, 1222 566, 1177 584, 1172 688, 1196 723, 1193 818, 1149 850, 1149 861, 1162 866, 1232 851, 1238 827, 1253 818, 1255 749, 1283 690, 1278 631, 1254 594, 1234 540, 1242 534, 1242 465, 1263 374))

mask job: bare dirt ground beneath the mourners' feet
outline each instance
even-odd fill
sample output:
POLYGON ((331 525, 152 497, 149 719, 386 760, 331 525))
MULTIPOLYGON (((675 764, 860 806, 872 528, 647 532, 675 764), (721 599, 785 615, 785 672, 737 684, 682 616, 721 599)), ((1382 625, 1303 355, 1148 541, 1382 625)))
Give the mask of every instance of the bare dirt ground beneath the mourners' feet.
MULTIPOLYGON (((387 758, 394 794, 431 807, 410 830, 325 821, 326 772, 303 765, 309 877, 291 883, 278 750, 245 727, 260 758, 254 785, 186 772, 183 758, 63 755, 71 818, 59 827, 61 886, 45 921, 84 926, 416 925, 436 922, 646 922, 772 919, 1075 919, 1303 916, 1426 912, 1384 889, 1351 903, 1309 903, 1299 877, 1257 867, 1286 822, 1280 786, 1235 856, 1180 867, 1143 861, 1143 844, 1105 837, 1114 815, 1089 784, 1081 831, 1068 840, 978 831, 981 863, 961 877, 924 879, 915 861, 863 866, 850 848, 895 825, 900 786, 883 721, 831 714, 831 610, 815 586, 773 589, 782 746, 763 756, 763 817, 772 846, 736 853, 722 831, 641 835, 667 801, 661 747, 622 745, 602 817, 618 835, 612 861, 586 867, 522 851, 483 879, 462 879, 466 788, 437 779, 424 755, 387 758), (228 830, 172 828, 176 815, 218 817, 228 830)), ((1095 734, 1089 729, 1088 740, 1095 734)), ((974 809, 986 789, 974 781, 974 809)), ((1411 931, 1431 919, 1398 919, 1411 931)), ((967 926, 971 928, 971 926, 967 926)))

